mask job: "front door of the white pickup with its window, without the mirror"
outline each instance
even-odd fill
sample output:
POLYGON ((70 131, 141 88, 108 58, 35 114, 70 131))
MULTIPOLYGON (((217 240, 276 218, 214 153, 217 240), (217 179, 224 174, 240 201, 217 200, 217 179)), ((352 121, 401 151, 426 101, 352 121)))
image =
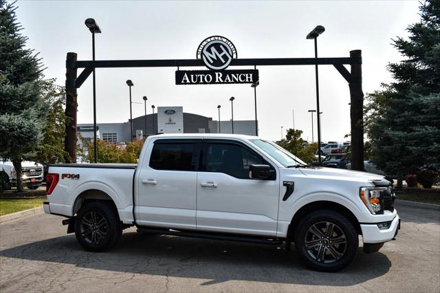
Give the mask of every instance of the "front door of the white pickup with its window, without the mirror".
POLYGON ((234 140, 203 140, 202 156, 197 230, 276 236, 279 175, 273 180, 249 177, 250 165, 269 163, 234 140))

